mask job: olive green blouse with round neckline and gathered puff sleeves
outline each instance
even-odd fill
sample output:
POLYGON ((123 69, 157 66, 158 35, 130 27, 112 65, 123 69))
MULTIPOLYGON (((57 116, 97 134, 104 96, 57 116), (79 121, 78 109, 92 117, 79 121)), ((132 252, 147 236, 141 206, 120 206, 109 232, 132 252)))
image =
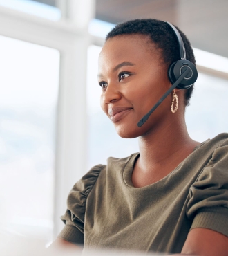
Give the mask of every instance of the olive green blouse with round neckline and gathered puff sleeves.
POLYGON ((74 185, 59 237, 85 248, 180 253, 193 228, 228 236, 228 134, 202 143, 143 188, 131 181, 138 156, 108 158, 74 185))

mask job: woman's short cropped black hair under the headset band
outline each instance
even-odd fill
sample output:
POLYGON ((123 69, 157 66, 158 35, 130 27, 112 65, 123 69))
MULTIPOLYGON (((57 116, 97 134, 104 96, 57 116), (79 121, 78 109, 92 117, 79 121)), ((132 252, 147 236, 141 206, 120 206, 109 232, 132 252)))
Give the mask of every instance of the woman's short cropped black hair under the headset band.
MULTIPOLYGON (((179 31, 182 40, 184 42, 186 58, 196 66, 195 56, 189 39, 182 31, 175 26, 179 31)), ((178 41, 175 37, 175 33, 171 30, 170 26, 158 19, 133 19, 126 21, 121 24, 117 24, 109 33, 106 35, 106 41, 117 35, 148 35, 156 47, 162 50, 162 57, 167 67, 173 62, 180 60, 180 48, 178 41)), ((193 92, 193 86, 185 92, 185 106, 189 105, 189 100, 193 92)))

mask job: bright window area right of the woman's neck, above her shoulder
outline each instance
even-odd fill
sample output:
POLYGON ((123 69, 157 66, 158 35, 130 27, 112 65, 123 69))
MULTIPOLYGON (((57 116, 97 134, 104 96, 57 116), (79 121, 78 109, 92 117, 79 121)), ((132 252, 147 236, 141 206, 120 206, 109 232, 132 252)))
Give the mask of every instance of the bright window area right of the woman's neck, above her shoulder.
POLYGON ((186 109, 189 135, 205 141, 228 131, 228 80, 198 74, 195 89, 186 109))

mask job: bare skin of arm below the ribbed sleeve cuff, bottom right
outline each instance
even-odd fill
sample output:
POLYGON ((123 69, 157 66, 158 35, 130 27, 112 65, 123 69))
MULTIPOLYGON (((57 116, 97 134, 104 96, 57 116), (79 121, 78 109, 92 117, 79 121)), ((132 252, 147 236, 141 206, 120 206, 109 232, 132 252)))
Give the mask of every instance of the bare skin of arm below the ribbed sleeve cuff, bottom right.
POLYGON ((181 253, 228 256, 228 237, 207 228, 193 228, 189 232, 181 253))

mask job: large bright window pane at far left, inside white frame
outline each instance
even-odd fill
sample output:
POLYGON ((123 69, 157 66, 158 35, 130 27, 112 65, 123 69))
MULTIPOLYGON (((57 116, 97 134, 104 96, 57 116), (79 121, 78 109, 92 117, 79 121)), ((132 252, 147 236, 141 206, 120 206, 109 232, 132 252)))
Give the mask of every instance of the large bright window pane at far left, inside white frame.
POLYGON ((1 228, 53 235, 59 51, 0 36, 1 228))

